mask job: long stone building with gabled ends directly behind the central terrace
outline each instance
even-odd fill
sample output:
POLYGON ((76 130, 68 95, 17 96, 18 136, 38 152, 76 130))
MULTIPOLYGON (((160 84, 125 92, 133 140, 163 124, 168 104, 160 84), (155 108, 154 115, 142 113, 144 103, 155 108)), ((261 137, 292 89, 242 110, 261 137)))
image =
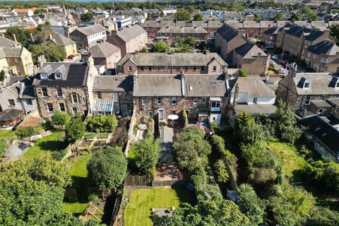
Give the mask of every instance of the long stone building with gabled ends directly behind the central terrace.
POLYGON ((119 73, 133 74, 220 74, 228 64, 217 53, 126 54, 117 64, 119 73))

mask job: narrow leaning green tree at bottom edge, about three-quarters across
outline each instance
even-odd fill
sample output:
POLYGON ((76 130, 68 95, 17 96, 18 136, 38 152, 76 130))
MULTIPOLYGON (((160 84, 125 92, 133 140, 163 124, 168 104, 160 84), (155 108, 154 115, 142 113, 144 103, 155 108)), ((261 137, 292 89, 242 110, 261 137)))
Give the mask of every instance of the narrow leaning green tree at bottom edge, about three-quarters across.
POLYGON ((239 186, 239 207, 252 225, 260 225, 265 217, 265 201, 261 200, 249 184, 239 186))

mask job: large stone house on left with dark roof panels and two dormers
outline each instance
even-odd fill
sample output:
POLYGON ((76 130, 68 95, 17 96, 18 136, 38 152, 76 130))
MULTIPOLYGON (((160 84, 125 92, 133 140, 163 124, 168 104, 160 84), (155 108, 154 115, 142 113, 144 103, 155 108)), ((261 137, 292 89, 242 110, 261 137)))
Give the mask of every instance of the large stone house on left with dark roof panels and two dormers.
POLYGON ((44 63, 33 83, 40 116, 49 119, 59 110, 69 114, 90 113, 93 80, 98 75, 93 58, 80 63, 44 63))

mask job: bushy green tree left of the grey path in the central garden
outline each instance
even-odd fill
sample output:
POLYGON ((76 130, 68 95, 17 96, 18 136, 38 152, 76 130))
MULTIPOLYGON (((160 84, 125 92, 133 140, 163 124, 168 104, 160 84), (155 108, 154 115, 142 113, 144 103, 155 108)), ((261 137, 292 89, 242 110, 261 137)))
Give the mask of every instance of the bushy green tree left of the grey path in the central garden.
POLYGON ((155 165, 160 156, 160 145, 158 141, 153 141, 152 136, 133 143, 131 153, 134 154, 133 162, 141 174, 153 175, 155 165))

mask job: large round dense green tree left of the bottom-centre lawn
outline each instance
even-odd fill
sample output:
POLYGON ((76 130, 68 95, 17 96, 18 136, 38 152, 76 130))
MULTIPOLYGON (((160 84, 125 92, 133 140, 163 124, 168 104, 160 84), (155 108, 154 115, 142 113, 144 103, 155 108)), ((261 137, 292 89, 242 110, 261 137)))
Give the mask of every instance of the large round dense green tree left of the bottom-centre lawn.
POLYGON ((95 152, 87 169, 88 177, 100 189, 113 189, 124 182, 127 161, 121 148, 109 147, 95 152))

